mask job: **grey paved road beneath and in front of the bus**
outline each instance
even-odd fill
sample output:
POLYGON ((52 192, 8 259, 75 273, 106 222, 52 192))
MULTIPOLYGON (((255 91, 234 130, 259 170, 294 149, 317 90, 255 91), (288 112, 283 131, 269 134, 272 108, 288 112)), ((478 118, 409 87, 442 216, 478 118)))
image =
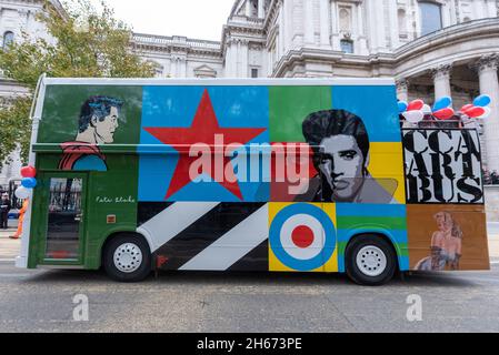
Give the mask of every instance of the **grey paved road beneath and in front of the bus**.
POLYGON ((0 241, 0 332, 499 332, 490 272, 417 274, 382 287, 341 275, 163 273, 141 284, 98 272, 23 271, 0 241), (89 321, 73 321, 77 294, 89 321), (422 321, 407 321, 407 297, 422 321))

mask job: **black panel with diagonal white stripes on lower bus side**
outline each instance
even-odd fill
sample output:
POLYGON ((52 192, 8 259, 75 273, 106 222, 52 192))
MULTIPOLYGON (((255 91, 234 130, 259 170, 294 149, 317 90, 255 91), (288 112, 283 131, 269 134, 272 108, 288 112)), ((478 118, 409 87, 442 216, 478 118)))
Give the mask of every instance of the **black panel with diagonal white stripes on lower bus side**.
POLYGON ((138 231, 152 241, 161 268, 268 271, 266 203, 139 203, 138 231))

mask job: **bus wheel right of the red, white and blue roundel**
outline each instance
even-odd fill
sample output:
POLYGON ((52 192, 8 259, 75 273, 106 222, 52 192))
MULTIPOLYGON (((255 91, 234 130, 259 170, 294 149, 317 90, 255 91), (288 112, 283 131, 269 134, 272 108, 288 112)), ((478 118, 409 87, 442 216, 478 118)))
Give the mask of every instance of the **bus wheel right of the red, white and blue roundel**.
POLYGON ((345 253, 348 276, 356 283, 377 286, 388 283, 397 270, 397 255, 390 243, 376 235, 352 240, 345 253))

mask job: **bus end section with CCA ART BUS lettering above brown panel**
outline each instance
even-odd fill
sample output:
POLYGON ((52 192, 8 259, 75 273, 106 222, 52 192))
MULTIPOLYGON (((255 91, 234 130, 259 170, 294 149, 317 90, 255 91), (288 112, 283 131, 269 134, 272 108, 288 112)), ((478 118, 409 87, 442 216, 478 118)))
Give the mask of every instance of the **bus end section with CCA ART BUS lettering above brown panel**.
POLYGON ((403 130, 410 267, 489 270, 476 130, 403 130))

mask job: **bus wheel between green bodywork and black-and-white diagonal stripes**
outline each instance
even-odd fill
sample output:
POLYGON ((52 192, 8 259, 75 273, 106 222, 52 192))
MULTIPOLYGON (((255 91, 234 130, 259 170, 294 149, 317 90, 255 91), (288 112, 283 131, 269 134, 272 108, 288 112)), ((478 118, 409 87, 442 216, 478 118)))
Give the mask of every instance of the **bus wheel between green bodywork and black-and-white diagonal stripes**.
POLYGON ((112 280, 139 282, 151 273, 151 252, 140 235, 113 237, 103 251, 103 266, 112 280))

